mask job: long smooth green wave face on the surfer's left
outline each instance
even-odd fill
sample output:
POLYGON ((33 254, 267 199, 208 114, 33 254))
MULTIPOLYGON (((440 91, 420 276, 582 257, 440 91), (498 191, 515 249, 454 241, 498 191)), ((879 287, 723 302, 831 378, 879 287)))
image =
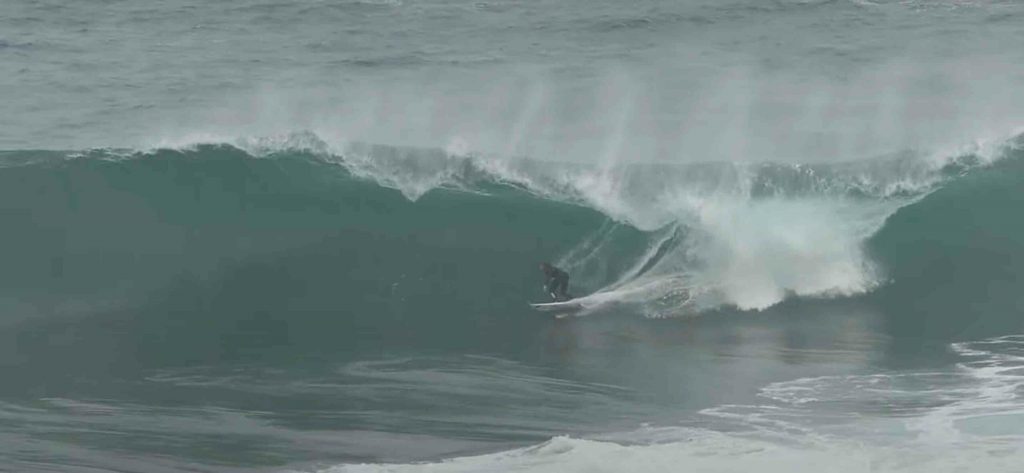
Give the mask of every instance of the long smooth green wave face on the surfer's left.
POLYGON ((0 202, 11 365, 519 343, 538 263, 605 221, 518 191, 411 202, 229 147, 8 167, 0 202))

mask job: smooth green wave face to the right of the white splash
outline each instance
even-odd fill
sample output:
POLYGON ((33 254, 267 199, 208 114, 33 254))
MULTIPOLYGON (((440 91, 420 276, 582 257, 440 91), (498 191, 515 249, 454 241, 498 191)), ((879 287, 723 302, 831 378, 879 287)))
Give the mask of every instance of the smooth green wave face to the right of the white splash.
POLYGON ((889 284, 872 295, 903 337, 1024 330, 1024 160, 1015 152, 889 217, 869 242, 889 284))

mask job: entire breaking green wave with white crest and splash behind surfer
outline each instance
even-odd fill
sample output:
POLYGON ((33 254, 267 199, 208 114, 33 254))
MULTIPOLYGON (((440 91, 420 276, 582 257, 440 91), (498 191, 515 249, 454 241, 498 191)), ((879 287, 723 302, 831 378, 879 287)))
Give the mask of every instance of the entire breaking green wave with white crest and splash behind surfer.
POLYGON ((541 261, 630 316, 852 297, 894 333, 1020 326, 1019 152, 927 169, 496 170, 441 156, 395 177, 410 157, 368 149, 383 158, 4 154, 0 359, 116 371, 528 349, 541 261))

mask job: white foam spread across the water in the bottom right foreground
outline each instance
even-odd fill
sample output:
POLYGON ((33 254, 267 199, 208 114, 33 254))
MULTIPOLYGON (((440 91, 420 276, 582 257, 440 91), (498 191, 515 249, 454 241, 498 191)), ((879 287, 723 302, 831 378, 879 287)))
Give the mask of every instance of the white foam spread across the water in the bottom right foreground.
POLYGON ((766 386, 762 405, 701 412, 701 427, 644 427, 371 472, 963 472, 1024 462, 1024 336, 956 344, 952 371, 808 378, 766 386))

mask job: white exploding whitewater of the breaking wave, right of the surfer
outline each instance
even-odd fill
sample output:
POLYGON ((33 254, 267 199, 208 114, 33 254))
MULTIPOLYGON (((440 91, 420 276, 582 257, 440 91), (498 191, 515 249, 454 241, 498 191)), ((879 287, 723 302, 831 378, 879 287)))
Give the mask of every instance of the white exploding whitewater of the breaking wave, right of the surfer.
MULTIPOLYGON (((854 198, 844 192, 848 188, 838 188, 761 197, 751 189, 755 177, 660 184, 637 197, 623 182, 584 179, 574 189, 589 205, 652 231, 649 250, 602 292, 645 292, 648 300, 696 292, 697 299, 678 300, 691 308, 740 309, 763 309, 790 294, 863 293, 883 274, 865 254, 865 240, 893 211, 923 195, 854 198), (655 231, 666 227, 673 230, 655 231), (667 248, 665 235, 676 233, 683 236, 667 248)), ((574 265, 571 259, 566 263, 574 265)))

